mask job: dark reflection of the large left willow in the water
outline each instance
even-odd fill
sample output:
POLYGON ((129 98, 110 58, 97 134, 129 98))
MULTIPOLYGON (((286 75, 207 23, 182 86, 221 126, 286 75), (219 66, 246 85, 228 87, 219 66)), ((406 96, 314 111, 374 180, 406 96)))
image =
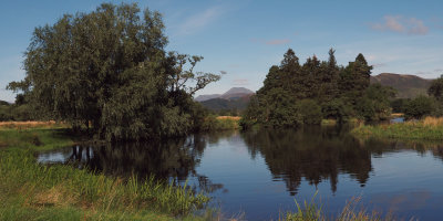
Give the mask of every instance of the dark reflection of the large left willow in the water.
MULTIPOLYGON (((235 131, 199 135, 186 138, 151 143, 124 143, 72 147, 66 164, 87 167, 107 176, 145 179, 154 176, 174 185, 184 183, 194 177, 194 190, 214 192, 223 189, 222 183, 213 183, 208 177, 196 172, 207 144, 216 144, 220 138, 235 131)), ((227 191, 227 190, 224 190, 227 191)))

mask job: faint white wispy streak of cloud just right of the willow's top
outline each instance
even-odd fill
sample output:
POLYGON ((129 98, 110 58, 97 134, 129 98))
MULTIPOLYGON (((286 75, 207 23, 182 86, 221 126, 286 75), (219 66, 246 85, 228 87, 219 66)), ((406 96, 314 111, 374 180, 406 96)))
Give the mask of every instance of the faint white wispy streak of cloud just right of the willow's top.
POLYGON ((214 22, 217 18, 225 13, 225 11, 226 10, 222 7, 212 7, 199 13, 195 13, 179 24, 178 33, 193 34, 214 22))

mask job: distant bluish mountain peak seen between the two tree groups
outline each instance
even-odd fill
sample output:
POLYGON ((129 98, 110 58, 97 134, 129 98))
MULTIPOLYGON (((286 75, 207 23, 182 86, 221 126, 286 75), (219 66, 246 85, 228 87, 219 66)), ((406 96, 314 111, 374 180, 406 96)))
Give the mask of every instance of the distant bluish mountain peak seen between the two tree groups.
POLYGON ((233 87, 224 94, 199 95, 195 101, 212 110, 237 109, 243 110, 249 103, 254 92, 245 87, 233 87))

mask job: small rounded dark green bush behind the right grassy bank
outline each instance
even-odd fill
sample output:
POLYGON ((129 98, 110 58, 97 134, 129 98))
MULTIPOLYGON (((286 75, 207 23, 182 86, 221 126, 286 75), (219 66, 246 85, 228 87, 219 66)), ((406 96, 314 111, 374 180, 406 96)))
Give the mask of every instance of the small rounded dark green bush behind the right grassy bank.
POLYGON ((424 116, 430 116, 435 110, 435 102, 432 97, 418 96, 410 102, 404 107, 404 117, 410 118, 422 118, 424 116))

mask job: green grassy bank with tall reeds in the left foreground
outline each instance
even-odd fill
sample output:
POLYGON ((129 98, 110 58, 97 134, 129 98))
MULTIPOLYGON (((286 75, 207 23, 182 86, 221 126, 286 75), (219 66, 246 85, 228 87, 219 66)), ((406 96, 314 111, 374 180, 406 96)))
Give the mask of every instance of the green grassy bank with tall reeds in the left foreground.
POLYGON ((209 200, 153 178, 39 165, 35 150, 74 144, 63 127, 2 127, 0 143, 0 220, 195 220, 190 212, 209 200))

